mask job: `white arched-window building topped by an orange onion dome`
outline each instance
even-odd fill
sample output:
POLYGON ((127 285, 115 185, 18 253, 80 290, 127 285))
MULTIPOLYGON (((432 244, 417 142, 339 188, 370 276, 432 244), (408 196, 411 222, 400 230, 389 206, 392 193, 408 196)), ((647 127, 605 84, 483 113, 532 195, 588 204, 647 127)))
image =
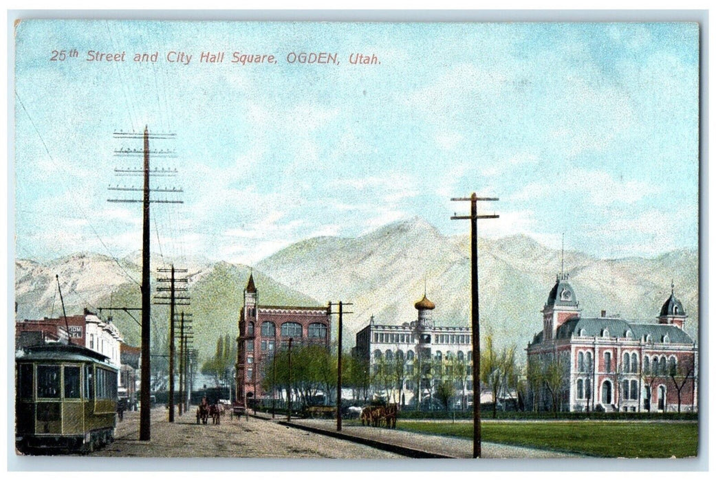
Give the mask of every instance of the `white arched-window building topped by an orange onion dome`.
POLYGON ((377 324, 371 316, 356 334, 355 352, 369 363, 374 394, 401 405, 420 404, 435 396, 438 382, 448 381, 455 387, 456 404, 467 406, 473 394, 470 328, 435 326, 435 303, 425 295, 415 308, 415 321, 377 324))

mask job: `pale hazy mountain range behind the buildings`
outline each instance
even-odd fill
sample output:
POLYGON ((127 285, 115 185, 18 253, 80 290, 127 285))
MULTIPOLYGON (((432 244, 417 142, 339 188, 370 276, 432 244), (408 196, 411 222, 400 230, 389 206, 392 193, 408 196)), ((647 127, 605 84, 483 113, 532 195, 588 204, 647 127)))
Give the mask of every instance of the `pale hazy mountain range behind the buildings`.
MULTIPOLYGON (((655 321, 671 293, 689 315, 686 331, 698 327, 698 253, 669 251, 654 258, 600 259, 548 248, 526 235, 478 239, 480 326, 498 346, 526 347, 541 330, 540 311, 560 273, 569 272, 583 316, 601 310, 632 321, 655 321)), ((62 315, 55 274, 59 276, 67 314, 82 308, 140 306, 141 256, 114 259, 77 253, 48 263, 16 260, 17 319, 62 315)), ((170 261, 153 256, 152 286, 158 266, 170 261)), ((201 258, 182 259, 188 279, 195 346, 204 359, 213 355, 216 339, 236 335, 243 288, 252 268, 201 258)), ((164 277, 165 274, 162 274, 164 277)), ((179 276, 179 275, 178 275, 179 276)), ((264 304, 316 306, 351 302, 344 316, 344 344, 369 323, 402 324, 415 320, 413 304, 425 294, 436 305, 436 325, 470 324, 470 238, 442 235, 422 218, 385 225, 356 238, 318 237, 301 240, 253 266, 264 304)), ((178 308, 180 310, 180 308, 178 308)), ((108 314, 110 311, 102 311, 108 314)), ((111 311, 128 344, 138 345, 139 324, 124 311, 111 311)), ((139 319, 137 312, 132 312, 139 319)), ((168 308, 153 306, 153 339, 163 344, 168 308)), ((335 324, 335 323, 334 323, 335 324)), ((335 326, 332 331, 335 335, 335 326)))

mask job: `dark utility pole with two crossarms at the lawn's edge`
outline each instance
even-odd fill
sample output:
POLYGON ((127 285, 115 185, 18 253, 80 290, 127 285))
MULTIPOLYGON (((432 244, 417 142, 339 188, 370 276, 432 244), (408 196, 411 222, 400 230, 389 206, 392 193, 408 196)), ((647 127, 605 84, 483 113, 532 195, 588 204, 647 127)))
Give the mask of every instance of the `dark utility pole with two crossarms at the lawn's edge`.
POLYGON ((496 219, 499 215, 478 215, 478 200, 500 200, 496 197, 478 197, 473 192, 470 197, 452 198, 453 201, 469 201, 470 215, 453 215, 451 220, 470 219, 470 262, 472 267, 471 283, 473 291, 473 457, 482 457, 482 433, 480 432, 480 293, 478 288, 478 219, 496 219))

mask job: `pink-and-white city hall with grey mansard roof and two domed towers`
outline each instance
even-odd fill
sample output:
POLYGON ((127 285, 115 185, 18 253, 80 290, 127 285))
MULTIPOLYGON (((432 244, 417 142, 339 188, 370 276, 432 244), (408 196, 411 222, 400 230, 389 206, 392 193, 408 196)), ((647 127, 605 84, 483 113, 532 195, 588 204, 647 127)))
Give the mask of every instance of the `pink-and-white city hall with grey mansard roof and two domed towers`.
POLYGON ((657 322, 601 311, 581 316, 569 274, 557 276, 541 311, 543 329, 527 346, 531 396, 538 409, 674 412, 697 409, 698 346, 672 293, 657 322), (540 377, 541 376, 541 377, 540 377), (558 393, 557 396, 553 396, 558 393))

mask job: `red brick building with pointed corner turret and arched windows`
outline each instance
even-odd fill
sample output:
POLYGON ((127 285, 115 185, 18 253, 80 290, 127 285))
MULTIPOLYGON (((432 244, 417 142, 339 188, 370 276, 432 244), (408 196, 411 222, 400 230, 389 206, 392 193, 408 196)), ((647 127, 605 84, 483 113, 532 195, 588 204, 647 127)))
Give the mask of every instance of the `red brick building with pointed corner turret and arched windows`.
POLYGON ((331 314, 326 306, 262 306, 253 274, 243 290, 243 307, 238 321, 236 353, 236 401, 246 404, 264 397, 261 382, 263 366, 271 362, 276 349, 293 345, 329 346, 331 314))

